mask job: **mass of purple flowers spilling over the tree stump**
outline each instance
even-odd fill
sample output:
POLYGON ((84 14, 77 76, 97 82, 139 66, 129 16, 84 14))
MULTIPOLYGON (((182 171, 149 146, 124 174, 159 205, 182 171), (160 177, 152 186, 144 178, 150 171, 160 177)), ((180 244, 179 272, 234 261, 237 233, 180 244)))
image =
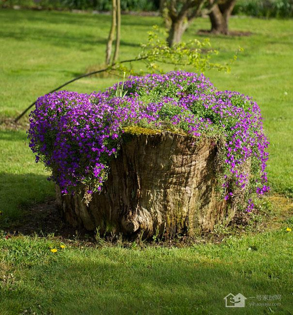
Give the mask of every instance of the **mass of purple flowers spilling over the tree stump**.
POLYGON ((130 77, 123 98, 116 97, 120 86, 89 95, 60 91, 37 100, 30 114, 30 147, 64 194, 81 187, 89 194, 101 190, 119 138, 133 124, 224 139, 219 174, 223 197, 245 192, 248 211, 253 208, 250 195, 269 190, 268 141, 251 98, 218 91, 203 75, 183 71, 130 77))

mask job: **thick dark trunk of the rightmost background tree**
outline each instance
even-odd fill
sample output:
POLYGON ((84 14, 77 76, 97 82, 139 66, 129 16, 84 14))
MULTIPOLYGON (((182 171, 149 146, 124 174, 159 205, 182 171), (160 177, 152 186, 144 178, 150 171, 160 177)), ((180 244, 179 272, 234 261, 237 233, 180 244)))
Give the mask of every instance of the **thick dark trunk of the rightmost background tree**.
MULTIPOLYGON (((212 5, 215 0, 209 0, 212 5)), ((213 5, 209 12, 209 20, 211 23, 211 33, 228 34, 228 20, 234 8, 236 0, 219 0, 217 4, 213 5)))

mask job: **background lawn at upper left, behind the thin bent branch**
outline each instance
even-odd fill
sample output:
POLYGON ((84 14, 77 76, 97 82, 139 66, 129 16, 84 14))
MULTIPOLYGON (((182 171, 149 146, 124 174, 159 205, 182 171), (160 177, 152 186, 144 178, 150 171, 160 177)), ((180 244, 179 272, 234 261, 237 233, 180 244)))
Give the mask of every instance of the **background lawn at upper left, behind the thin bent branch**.
MULTIPOLYGON (((121 58, 133 57, 157 18, 123 17, 121 58), (133 38, 135 27, 135 38, 133 38)), ((105 62, 109 16, 0 10, 1 116, 15 116, 40 95, 105 62)), ((92 92, 117 79, 83 79, 68 90, 92 92)))

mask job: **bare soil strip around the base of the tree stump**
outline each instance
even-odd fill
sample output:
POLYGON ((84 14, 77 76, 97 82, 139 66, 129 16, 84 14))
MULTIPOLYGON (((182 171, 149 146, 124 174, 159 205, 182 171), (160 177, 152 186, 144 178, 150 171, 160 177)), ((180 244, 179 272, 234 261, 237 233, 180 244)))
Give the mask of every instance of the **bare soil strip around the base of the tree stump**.
POLYGON ((202 233, 196 238, 185 235, 173 239, 122 239, 122 236, 108 234, 96 237, 95 232, 89 232, 84 228, 73 228, 64 222, 55 199, 50 199, 42 204, 35 204, 25 209, 25 215, 19 220, 9 222, 8 227, 1 228, 8 236, 13 235, 38 235, 46 237, 54 236, 62 239, 66 244, 75 246, 99 246, 114 245, 118 242, 124 247, 185 247, 199 243, 221 243, 225 238, 241 236, 246 233, 262 233, 267 230, 286 229, 292 227, 293 199, 281 195, 271 195, 263 198, 260 205, 253 213, 239 213, 228 226, 217 226, 211 232, 202 233))

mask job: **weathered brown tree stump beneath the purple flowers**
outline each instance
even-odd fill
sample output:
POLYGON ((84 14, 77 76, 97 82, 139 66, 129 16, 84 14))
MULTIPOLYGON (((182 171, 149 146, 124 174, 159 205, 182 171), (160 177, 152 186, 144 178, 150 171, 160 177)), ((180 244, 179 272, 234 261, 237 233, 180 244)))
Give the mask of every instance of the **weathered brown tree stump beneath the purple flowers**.
POLYGON ((101 233, 172 237, 212 230, 234 216, 233 205, 217 194, 215 140, 140 129, 123 134, 102 192, 88 205, 83 194, 62 196, 56 186, 67 222, 87 230, 99 227, 101 233))

